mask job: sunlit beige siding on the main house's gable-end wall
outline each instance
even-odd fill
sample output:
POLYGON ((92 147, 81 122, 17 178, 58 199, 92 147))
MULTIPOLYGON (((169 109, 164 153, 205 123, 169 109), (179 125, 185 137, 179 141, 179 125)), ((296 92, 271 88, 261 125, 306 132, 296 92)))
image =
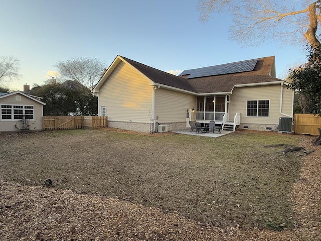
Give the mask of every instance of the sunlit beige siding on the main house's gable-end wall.
POLYGON ((99 111, 106 106, 108 121, 149 123, 152 91, 147 78, 120 62, 99 89, 99 111))

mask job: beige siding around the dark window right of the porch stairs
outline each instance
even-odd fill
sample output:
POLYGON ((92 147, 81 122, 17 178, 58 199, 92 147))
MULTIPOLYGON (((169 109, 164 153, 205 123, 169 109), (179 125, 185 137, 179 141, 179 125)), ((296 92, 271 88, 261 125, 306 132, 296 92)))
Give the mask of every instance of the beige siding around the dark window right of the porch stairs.
MULTIPOLYGON (((288 89, 283 88, 282 110, 289 115, 292 110, 291 93, 288 89)), ((238 112, 241 113, 241 123, 277 125, 279 123, 279 117, 284 117, 284 115, 279 113, 280 96, 280 84, 234 88, 230 96, 230 121, 233 121, 235 113, 238 112), (269 117, 247 117, 247 100, 269 100, 269 117)))

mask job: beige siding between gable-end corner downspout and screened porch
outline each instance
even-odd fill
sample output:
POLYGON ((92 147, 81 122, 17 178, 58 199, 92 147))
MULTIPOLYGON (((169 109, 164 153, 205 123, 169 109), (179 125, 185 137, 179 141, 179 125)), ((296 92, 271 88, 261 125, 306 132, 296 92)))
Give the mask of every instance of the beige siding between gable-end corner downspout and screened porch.
MULTIPOLYGON (((186 122, 186 108, 195 108, 195 104, 196 96, 164 88, 155 90, 158 123, 186 122)), ((195 112, 192 113, 192 121, 195 121, 195 112)))

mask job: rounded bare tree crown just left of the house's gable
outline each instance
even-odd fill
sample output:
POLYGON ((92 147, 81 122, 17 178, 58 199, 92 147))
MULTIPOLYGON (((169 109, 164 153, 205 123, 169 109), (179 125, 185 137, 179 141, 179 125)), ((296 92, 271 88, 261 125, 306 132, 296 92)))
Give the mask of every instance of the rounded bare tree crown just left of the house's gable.
POLYGON ((55 65, 62 77, 91 88, 100 78, 105 64, 97 59, 72 58, 55 65))

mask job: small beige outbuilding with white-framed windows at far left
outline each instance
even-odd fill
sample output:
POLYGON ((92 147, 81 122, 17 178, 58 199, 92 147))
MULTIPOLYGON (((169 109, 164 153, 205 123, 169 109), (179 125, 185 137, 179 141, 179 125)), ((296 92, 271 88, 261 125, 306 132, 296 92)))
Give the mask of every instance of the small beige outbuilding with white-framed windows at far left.
POLYGON ((21 91, 0 93, 0 132, 41 131, 44 102, 21 91))

